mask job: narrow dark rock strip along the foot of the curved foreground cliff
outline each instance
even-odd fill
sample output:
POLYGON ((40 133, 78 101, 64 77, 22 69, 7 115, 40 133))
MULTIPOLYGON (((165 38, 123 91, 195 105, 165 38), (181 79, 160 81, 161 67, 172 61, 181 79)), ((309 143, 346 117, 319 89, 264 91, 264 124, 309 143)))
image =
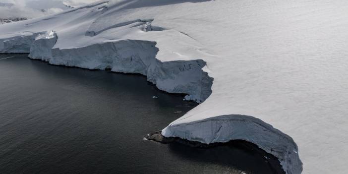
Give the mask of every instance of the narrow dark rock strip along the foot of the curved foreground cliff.
POLYGON ((148 140, 156 141, 159 143, 164 143, 164 144, 177 143, 177 144, 190 146, 193 148, 214 148, 217 146, 230 146, 232 148, 243 149, 243 150, 249 151, 250 153, 256 153, 258 155, 262 155, 265 159, 266 164, 269 165, 274 170, 274 174, 285 174, 284 170, 282 169, 282 166, 280 165, 278 158, 260 149, 255 144, 244 141, 244 140, 231 140, 226 143, 204 144, 198 141, 189 141, 189 140, 181 139, 178 137, 164 137, 162 136, 161 131, 150 133, 146 136, 146 138, 148 140))

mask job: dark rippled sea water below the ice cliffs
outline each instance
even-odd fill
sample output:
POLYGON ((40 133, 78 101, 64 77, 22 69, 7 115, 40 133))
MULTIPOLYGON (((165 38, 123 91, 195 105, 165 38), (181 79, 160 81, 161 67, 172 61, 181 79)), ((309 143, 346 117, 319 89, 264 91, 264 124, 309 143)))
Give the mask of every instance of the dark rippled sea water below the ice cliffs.
POLYGON ((54 66, 26 56, 0 55, 0 174, 282 171, 257 148, 143 140, 196 106, 156 89, 144 76, 54 66))

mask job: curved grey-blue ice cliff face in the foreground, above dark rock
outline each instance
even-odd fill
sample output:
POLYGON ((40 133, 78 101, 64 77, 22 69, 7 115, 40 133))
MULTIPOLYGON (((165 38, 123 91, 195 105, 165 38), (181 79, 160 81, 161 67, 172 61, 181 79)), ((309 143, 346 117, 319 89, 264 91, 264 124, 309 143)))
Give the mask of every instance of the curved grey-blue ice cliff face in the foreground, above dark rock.
POLYGON ((165 137, 181 137, 205 144, 245 140, 277 157, 287 174, 300 174, 302 162, 293 139, 272 125, 252 116, 215 116, 189 123, 171 123, 165 137))

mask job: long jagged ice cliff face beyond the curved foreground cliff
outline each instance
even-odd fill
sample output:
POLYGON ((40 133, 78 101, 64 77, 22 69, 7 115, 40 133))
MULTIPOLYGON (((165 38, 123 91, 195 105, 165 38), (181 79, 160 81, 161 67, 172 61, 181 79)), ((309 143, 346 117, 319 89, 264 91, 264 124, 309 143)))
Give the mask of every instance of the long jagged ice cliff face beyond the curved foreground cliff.
POLYGON ((119 40, 74 49, 53 49, 57 40, 55 31, 12 37, 3 39, 1 52, 30 53, 29 58, 56 65, 139 73, 147 76, 148 81, 156 84, 159 89, 188 94, 186 100, 198 103, 205 101, 212 92, 213 78, 202 70, 206 65, 205 61, 161 62, 156 59, 156 42, 119 40))

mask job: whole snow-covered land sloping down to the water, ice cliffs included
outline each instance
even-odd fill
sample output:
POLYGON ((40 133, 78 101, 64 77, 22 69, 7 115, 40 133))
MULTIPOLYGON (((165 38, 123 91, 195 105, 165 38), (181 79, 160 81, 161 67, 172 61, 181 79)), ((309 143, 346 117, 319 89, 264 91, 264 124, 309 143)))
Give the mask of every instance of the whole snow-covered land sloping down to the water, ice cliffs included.
POLYGON ((0 26, 0 53, 188 94, 164 136, 246 140, 287 174, 348 173, 347 43, 346 0, 99 1, 0 26))

